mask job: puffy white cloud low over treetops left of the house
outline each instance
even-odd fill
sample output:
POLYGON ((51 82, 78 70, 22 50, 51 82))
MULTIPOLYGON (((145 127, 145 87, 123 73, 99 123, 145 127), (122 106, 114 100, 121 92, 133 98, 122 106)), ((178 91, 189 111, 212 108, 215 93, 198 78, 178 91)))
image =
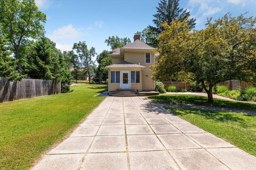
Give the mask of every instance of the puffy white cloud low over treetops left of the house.
POLYGON ((54 30, 53 33, 49 35, 49 38, 52 41, 77 39, 79 36, 82 35, 82 32, 80 32, 80 30, 81 29, 76 29, 73 27, 73 25, 69 24, 67 26, 59 28, 58 30, 54 30))

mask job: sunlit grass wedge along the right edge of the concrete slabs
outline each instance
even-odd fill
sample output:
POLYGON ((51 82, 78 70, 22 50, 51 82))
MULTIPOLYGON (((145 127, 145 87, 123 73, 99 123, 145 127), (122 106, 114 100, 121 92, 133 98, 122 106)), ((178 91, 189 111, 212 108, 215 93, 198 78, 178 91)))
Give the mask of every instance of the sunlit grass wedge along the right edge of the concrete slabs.
POLYGON ((167 109, 199 128, 256 156, 256 115, 187 108, 167 107, 167 109))

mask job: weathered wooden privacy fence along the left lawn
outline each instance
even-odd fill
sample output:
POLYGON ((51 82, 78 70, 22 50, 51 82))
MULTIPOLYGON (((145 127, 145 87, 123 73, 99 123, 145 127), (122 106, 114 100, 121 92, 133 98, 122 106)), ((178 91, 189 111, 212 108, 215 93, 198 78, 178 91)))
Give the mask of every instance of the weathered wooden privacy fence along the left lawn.
POLYGON ((53 80, 22 79, 9 81, 0 77, 0 103, 37 96, 60 94, 60 83, 53 80))

